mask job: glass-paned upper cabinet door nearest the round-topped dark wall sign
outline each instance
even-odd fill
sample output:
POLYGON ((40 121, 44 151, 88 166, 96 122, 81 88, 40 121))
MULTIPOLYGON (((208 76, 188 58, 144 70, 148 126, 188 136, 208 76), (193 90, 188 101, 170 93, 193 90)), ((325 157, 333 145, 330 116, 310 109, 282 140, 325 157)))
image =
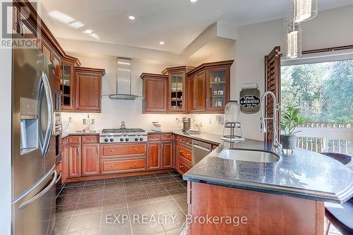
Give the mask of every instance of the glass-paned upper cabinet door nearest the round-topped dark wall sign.
POLYGON ((208 110, 224 110, 228 99, 229 69, 216 68, 207 71, 208 110))

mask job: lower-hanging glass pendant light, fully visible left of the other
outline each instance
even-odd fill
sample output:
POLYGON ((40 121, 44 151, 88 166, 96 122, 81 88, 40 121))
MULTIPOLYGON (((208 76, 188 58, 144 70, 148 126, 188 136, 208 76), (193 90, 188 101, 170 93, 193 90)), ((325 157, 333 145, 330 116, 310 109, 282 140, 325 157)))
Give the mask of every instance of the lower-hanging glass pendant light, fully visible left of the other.
POLYGON ((285 53, 289 59, 301 56, 301 25, 294 22, 294 19, 285 20, 285 53))

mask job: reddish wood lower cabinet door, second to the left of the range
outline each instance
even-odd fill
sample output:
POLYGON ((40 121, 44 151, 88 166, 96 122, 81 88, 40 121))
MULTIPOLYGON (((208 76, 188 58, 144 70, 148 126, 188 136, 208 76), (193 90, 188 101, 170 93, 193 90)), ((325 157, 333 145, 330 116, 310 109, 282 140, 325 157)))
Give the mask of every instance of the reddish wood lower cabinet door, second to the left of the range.
POLYGON ((80 144, 68 145, 68 177, 81 176, 80 144))

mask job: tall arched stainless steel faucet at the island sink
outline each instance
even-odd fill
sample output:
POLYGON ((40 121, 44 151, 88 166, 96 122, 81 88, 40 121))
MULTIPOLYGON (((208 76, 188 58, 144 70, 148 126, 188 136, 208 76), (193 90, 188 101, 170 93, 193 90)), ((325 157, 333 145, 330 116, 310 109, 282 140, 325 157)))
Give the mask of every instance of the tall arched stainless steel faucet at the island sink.
POLYGON ((278 141, 277 138, 277 111, 278 111, 278 104, 277 104, 277 100, 276 100, 276 96, 275 94, 273 94, 273 92, 267 91, 265 93, 263 93, 263 96, 261 97, 261 119, 260 119, 260 131, 262 133, 266 133, 266 123, 268 120, 272 120, 273 121, 273 139, 272 139, 272 145, 271 145, 271 150, 275 150, 275 148, 281 148, 282 145, 280 144, 280 142, 278 141), (271 95, 273 98, 273 116, 271 118, 269 117, 265 117, 263 114, 263 107, 265 105, 263 105, 263 100, 265 100, 265 97, 267 95, 271 95))

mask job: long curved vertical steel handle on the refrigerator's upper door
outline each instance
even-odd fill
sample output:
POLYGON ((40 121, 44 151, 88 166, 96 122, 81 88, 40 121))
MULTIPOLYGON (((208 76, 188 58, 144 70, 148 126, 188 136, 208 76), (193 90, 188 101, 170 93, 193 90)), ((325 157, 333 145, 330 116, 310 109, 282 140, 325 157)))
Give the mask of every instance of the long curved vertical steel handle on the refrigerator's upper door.
POLYGON ((45 155, 47 153, 48 148, 49 148, 50 137, 51 137, 52 131, 53 131, 54 109, 53 109, 53 100, 52 100, 52 90, 50 89, 49 80, 47 78, 47 75, 44 72, 42 72, 41 77, 42 77, 42 81, 43 81, 43 85, 44 85, 44 92, 45 92, 45 96, 47 98, 47 107, 48 107, 47 131, 45 132, 44 143, 43 143, 43 148, 42 148, 42 155, 45 155))

